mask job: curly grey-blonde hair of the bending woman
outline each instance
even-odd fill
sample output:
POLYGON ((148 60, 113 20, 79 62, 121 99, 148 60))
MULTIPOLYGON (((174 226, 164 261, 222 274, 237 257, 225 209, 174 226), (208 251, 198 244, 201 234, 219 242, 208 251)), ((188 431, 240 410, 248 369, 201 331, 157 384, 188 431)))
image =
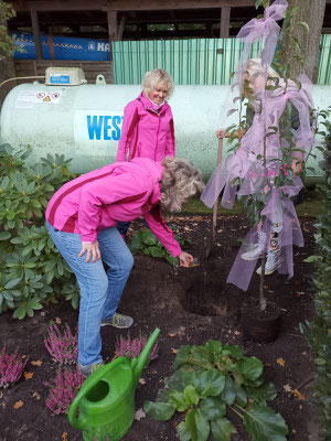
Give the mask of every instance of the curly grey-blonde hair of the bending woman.
POLYGON ((179 213, 182 205, 204 189, 202 173, 192 162, 166 157, 161 185, 161 205, 170 213, 179 213))

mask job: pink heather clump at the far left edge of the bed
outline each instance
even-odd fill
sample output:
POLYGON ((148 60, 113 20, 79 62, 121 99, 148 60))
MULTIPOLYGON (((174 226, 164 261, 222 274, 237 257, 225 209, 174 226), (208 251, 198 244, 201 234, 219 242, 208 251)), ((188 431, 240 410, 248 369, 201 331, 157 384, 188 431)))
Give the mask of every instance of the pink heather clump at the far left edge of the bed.
POLYGON ((24 359, 22 355, 18 354, 18 351, 8 355, 3 347, 0 354, 0 387, 6 389, 17 383, 21 378, 26 363, 28 358, 24 359))

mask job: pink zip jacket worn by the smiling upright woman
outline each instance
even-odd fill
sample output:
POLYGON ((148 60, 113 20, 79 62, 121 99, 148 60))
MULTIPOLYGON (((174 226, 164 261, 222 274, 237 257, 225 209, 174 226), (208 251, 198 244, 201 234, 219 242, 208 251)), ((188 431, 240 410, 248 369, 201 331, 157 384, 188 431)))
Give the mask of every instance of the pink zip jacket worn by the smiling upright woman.
POLYGON ((162 161, 164 157, 174 157, 173 117, 168 103, 158 112, 141 93, 126 106, 116 161, 126 161, 128 151, 129 161, 134 158, 162 161))

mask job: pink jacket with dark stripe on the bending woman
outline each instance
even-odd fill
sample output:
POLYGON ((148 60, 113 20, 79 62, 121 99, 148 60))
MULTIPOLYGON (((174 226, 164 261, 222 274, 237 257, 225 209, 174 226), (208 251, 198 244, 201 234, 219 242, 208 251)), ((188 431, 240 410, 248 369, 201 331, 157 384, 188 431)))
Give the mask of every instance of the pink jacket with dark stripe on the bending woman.
POLYGON ((143 216, 150 229, 173 257, 182 250, 167 226, 159 204, 161 163, 147 158, 116 162, 64 184, 51 198, 45 217, 56 229, 81 234, 94 243, 97 234, 143 216))

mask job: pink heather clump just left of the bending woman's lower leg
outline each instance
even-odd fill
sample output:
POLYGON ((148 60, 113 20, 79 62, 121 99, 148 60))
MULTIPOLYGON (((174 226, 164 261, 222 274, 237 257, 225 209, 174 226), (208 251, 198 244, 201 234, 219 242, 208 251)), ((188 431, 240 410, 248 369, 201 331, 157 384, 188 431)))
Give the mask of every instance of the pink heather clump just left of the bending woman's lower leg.
POLYGON ((44 340, 44 344, 54 362, 58 362, 61 365, 71 365, 77 363, 77 334, 73 335, 67 324, 65 324, 63 335, 56 324, 51 324, 49 337, 44 340))

